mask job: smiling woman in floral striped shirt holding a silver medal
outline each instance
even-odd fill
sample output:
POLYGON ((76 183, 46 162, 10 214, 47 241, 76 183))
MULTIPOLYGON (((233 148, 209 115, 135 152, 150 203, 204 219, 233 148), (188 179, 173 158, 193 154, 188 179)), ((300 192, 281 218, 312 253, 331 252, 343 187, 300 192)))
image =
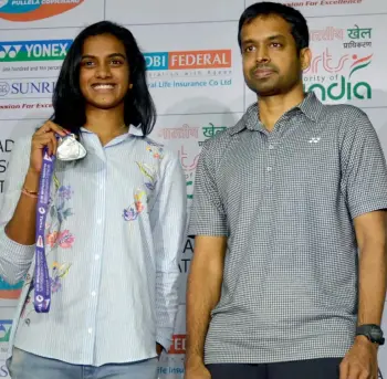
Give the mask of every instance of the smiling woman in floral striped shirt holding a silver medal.
POLYGON ((148 139, 156 113, 132 33, 103 21, 64 60, 54 115, 14 145, 0 275, 25 278, 15 379, 157 378, 178 307, 186 183, 148 139))

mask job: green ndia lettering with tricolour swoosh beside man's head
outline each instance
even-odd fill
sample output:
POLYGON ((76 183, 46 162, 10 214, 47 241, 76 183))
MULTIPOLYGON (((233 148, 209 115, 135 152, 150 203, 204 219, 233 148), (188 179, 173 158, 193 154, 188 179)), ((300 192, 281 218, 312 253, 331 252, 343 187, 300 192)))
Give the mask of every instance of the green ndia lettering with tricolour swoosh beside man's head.
MULTIPOLYGON (((320 95, 322 101, 342 101, 342 99, 370 99, 373 91, 367 82, 354 82, 353 75, 372 63, 373 54, 358 57, 356 54, 352 56, 354 62, 349 66, 349 74, 347 77, 344 75, 334 75, 334 80, 328 86, 315 83, 310 86, 304 84, 305 91, 314 91, 320 95)), ((356 76, 356 75, 355 75, 356 76)))

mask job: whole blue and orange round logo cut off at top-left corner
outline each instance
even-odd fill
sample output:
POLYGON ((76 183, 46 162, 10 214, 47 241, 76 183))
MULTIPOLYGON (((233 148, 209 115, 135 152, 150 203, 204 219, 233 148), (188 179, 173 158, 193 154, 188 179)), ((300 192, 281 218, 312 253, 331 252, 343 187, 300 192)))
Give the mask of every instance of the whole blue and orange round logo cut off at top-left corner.
POLYGON ((0 0, 0 19, 19 22, 48 19, 82 2, 84 0, 0 0))

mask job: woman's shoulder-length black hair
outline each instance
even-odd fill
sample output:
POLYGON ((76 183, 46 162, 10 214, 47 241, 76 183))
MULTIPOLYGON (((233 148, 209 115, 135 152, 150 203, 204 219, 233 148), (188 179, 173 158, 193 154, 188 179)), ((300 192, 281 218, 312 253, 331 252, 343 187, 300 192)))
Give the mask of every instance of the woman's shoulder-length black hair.
POLYGON ((51 119, 80 136, 80 128, 86 123, 85 99, 80 88, 83 44, 87 38, 101 34, 114 35, 125 46, 133 87, 124 99, 124 120, 126 125, 140 127, 146 136, 155 126, 156 108, 146 82, 145 57, 130 31, 109 21, 87 27, 72 43, 54 88, 52 98, 54 114, 51 119))

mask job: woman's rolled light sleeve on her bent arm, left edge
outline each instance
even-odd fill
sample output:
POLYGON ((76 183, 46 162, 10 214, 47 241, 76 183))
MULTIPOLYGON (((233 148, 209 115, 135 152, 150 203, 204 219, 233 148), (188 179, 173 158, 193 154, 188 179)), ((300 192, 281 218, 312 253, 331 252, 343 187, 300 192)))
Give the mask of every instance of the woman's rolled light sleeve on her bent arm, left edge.
MULTIPOLYGON (((0 276, 9 284, 23 280, 34 254, 34 245, 21 245, 6 234, 19 202, 30 162, 31 137, 14 143, 7 169, 0 210, 0 276)), ((21 225, 22 228, 22 225, 21 225)))

